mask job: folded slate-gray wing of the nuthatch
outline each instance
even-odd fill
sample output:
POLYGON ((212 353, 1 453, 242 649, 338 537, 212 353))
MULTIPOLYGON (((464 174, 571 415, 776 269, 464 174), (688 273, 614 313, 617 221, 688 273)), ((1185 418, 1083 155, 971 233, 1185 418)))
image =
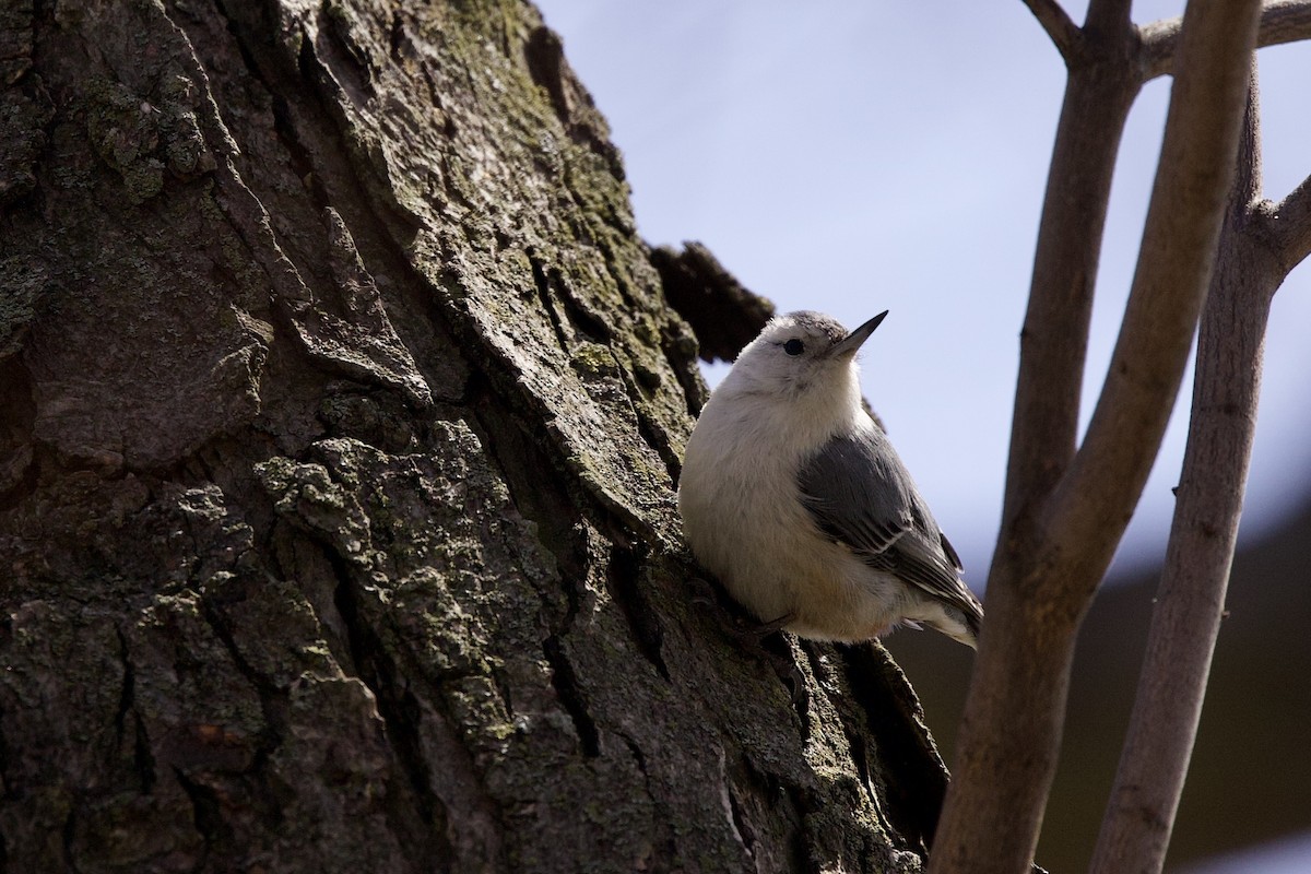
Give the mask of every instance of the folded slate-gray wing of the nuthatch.
POLYGON ((880 430, 831 439, 801 466, 797 485, 825 533, 871 567, 947 601, 978 628, 982 613, 961 582, 961 560, 880 430))

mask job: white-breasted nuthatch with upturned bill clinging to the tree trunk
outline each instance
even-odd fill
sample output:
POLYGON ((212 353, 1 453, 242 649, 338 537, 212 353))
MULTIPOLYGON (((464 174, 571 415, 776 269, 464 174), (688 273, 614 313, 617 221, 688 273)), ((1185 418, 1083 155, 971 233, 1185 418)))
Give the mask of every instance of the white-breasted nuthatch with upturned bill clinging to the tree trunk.
POLYGON ((777 316, 742 350, 687 442, 683 531, 763 622, 847 642, 923 622, 973 647, 983 608, 861 402, 856 350, 886 314, 777 316))

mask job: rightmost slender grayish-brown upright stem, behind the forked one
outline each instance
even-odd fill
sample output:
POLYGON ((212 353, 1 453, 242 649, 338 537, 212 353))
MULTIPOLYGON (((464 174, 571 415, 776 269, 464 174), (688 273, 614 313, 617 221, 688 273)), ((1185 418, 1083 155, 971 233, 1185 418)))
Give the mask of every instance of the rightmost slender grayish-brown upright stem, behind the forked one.
POLYGON ((1285 273, 1253 233, 1260 197, 1256 67, 1238 178, 1197 343, 1179 503, 1129 736, 1106 806, 1095 874, 1159 871, 1192 757, 1247 484, 1261 349, 1285 273))

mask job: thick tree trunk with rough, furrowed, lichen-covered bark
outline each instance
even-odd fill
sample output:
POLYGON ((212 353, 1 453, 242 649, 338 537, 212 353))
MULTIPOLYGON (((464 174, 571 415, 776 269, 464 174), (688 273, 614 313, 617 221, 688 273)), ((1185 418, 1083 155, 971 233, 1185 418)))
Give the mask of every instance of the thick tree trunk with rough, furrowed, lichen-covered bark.
POLYGON ((5 4, 0 88, 0 869, 920 869, 886 653, 686 582, 696 341, 531 7, 5 4))

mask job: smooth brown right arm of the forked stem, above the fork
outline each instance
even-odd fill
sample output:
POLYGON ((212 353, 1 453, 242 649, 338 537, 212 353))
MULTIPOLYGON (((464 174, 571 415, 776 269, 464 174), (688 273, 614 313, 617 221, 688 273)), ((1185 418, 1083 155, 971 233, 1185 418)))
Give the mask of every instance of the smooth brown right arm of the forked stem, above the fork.
POLYGON ((1074 562, 1089 595, 1151 470, 1206 297, 1259 10, 1256 0, 1189 5, 1124 325, 1088 435, 1050 510, 1050 560, 1074 562))

